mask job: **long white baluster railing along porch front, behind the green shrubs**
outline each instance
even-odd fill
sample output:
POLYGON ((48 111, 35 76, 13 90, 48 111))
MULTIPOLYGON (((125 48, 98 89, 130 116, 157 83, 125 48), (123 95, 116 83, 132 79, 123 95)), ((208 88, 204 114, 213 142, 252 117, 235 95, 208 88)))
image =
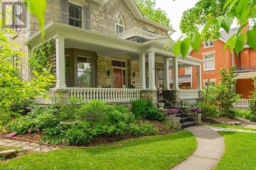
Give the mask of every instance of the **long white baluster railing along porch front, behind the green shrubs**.
POLYGON ((140 98, 140 89, 127 88, 68 88, 69 98, 77 96, 84 101, 102 100, 108 103, 130 102, 140 98))

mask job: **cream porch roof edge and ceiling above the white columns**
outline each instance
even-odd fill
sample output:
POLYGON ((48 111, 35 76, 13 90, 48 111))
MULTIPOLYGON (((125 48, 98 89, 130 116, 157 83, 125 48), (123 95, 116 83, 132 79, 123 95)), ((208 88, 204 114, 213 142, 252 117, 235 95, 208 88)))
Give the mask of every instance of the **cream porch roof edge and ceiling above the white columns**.
MULTIPOLYGON (((65 47, 78 47, 87 50, 97 51, 99 55, 118 56, 129 55, 132 58, 138 59, 137 55, 141 53, 155 52, 156 62, 163 62, 163 56, 168 57, 170 65, 172 65, 172 52, 166 52, 163 49, 169 38, 160 38, 139 43, 131 40, 117 38, 115 36, 105 35, 94 31, 77 28, 66 25, 64 23, 51 21, 44 27, 46 36, 45 39, 52 39, 55 36, 65 37, 65 47)), ((36 32, 29 37, 23 44, 29 45, 31 50, 41 45, 41 31, 36 32)), ((203 60, 187 56, 184 60, 181 56, 178 57, 178 62, 181 65, 196 66, 203 63, 203 60)))

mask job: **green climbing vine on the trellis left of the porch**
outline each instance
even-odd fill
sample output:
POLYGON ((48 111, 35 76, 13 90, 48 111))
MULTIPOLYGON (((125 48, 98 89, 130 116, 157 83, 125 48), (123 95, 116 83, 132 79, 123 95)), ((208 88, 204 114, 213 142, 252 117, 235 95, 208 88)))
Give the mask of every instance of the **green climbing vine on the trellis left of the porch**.
POLYGON ((49 64, 49 54, 52 53, 53 49, 54 44, 50 40, 42 43, 32 51, 28 61, 33 70, 38 72, 41 72, 43 69, 51 70, 52 66, 49 64))

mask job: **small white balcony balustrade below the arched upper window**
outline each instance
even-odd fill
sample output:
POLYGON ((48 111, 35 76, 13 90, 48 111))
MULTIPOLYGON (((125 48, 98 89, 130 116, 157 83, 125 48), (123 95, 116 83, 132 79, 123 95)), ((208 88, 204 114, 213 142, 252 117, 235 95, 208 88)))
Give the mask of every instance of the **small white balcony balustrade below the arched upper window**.
POLYGON ((138 28, 134 28, 134 29, 122 32, 115 36, 118 38, 122 38, 122 39, 130 38, 133 36, 140 36, 140 37, 147 38, 147 39, 166 38, 164 36, 157 35, 157 34, 154 34, 154 33, 151 33, 151 32, 145 31, 145 30, 141 30, 138 28))

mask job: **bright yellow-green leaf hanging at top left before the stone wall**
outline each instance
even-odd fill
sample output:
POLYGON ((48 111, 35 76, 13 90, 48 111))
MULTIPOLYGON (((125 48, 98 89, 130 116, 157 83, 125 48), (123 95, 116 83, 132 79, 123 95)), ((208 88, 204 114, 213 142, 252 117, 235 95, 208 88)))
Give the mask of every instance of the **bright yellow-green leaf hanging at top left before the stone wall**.
POLYGON ((39 21, 39 28, 41 29, 41 39, 45 37, 45 31, 43 30, 45 26, 44 13, 46 10, 46 0, 30 0, 28 9, 34 14, 39 21))

